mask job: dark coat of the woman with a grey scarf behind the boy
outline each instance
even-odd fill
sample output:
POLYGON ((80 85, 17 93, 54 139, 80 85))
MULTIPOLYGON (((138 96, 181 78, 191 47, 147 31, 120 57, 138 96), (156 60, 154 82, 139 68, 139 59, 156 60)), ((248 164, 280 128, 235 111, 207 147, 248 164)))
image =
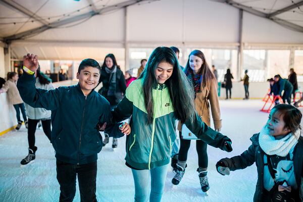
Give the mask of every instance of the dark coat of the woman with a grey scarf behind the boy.
POLYGON ((119 68, 117 68, 116 93, 115 96, 108 96, 107 94, 110 87, 110 75, 111 74, 105 71, 105 67, 102 67, 99 82, 102 82, 103 87, 98 92, 102 94, 105 98, 107 98, 111 106, 116 106, 122 99, 123 95, 125 95, 126 81, 123 72, 119 68))

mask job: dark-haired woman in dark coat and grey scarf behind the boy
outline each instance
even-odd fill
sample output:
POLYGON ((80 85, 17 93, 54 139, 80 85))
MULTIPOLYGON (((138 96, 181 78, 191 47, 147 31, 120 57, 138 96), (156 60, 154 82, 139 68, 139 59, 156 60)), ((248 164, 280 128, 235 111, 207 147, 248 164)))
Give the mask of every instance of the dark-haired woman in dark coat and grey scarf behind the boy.
MULTIPOLYGON (((110 102, 111 108, 113 109, 123 98, 126 90, 123 72, 117 65, 116 58, 113 54, 108 54, 105 57, 101 67, 99 82, 103 83, 103 87, 98 92, 110 102)), ((103 145, 105 146, 107 143, 109 143, 109 135, 105 134, 103 145)), ((112 147, 116 148, 117 146, 118 140, 117 138, 113 138, 112 147)))

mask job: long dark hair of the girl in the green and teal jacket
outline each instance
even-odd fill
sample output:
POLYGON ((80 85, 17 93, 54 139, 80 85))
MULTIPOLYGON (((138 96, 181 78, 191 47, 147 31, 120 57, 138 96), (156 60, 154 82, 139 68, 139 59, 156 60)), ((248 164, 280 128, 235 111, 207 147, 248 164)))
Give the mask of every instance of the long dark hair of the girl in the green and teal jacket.
POLYGON ((175 112, 175 118, 184 123, 193 119, 195 115, 194 92, 187 77, 182 72, 178 59, 169 47, 157 47, 149 56, 146 66, 139 76, 143 80, 144 104, 147 111, 148 122, 154 117, 153 88, 157 87, 156 69, 161 62, 167 62, 173 66, 171 77, 165 82, 175 112))

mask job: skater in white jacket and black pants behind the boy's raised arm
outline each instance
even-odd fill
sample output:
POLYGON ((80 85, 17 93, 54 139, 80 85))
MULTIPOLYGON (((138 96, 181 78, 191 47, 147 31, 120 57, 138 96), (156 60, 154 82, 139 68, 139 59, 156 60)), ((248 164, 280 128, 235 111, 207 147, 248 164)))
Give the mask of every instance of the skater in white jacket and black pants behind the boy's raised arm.
MULTIPOLYGON (((36 77, 36 88, 51 90, 54 89, 51 81, 48 77, 41 74, 40 68, 35 72, 36 77)), ((42 123, 43 132, 46 137, 52 142, 51 139, 51 114, 52 112, 49 110, 45 110, 43 108, 33 108, 27 104, 25 104, 26 114, 28 117, 28 131, 27 131, 27 139, 28 139, 28 155, 22 159, 21 164, 26 165, 32 162, 35 159, 35 152, 37 147, 35 146, 35 132, 36 127, 39 121, 42 123)))

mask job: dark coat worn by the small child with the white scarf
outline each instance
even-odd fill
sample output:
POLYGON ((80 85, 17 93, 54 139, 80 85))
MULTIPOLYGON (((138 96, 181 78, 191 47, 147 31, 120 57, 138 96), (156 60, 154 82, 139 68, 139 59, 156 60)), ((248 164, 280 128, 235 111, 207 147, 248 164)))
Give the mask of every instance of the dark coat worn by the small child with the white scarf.
MULTIPOLYGON (((264 155, 265 152, 259 145, 259 133, 254 134, 250 138, 252 144, 249 148, 244 151, 240 156, 235 156, 232 158, 221 159, 226 167, 231 171, 244 169, 251 166, 256 162, 258 171, 258 180, 256 185, 256 191, 254 195, 254 202, 262 201, 263 194, 263 177, 264 177, 264 155)), ((294 175, 296 176, 296 183, 300 192, 301 200, 303 199, 303 137, 299 138, 298 143, 295 145, 293 150, 293 167, 294 175)))

